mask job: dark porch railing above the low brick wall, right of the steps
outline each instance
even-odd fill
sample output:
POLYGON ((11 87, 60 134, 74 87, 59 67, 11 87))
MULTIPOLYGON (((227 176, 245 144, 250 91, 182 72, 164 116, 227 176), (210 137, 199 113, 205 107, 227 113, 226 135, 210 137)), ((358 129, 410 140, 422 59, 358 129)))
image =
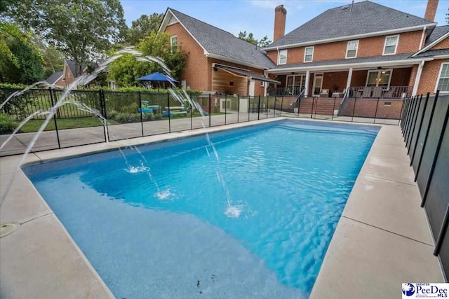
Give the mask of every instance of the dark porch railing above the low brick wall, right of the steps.
POLYGON ((350 98, 403 99, 412 95, 412 86, 359 86, 348 88, 350 98))

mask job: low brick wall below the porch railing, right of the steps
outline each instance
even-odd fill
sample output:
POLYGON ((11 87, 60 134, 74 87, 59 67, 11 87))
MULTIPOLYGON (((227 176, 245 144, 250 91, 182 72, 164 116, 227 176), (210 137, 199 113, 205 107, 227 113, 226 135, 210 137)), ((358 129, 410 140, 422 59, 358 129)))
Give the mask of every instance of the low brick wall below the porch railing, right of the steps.
POLYGON ((398 119, 402 105, 402 99, 347 99, 339 115, 352 116, 354 112, 354 117, 398 119))

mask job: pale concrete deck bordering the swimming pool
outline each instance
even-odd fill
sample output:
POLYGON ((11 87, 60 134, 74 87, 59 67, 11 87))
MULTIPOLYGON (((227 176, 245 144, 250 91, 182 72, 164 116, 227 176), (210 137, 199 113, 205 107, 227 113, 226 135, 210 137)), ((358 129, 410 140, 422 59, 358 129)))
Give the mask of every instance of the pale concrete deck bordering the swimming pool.
MULTIPOLYGON (((280 120, 93 144, 30 154, 41 162, 280 120)), ((314 120, 311 120, 314 121, 314 120)), ((398 298, 402 282, 443 282, 434 240, 400 127, 381 128, 349 195, 310 298, 398 298)), ((3 194, 21 156, 0 158, 3 194)), ((0 239, 0 298, 114 298, 53 211, 20 170, 0 222, 20 223, 0 239)))

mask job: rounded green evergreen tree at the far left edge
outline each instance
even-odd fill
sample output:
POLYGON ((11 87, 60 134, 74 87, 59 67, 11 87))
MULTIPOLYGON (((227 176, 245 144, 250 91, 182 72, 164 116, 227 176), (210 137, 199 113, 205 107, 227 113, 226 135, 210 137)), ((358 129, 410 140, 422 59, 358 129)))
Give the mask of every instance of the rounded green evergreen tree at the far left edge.
POLYGON ((43 78, 39 51, 17 26, 0 22, 0 81, 30 84, 43 78))

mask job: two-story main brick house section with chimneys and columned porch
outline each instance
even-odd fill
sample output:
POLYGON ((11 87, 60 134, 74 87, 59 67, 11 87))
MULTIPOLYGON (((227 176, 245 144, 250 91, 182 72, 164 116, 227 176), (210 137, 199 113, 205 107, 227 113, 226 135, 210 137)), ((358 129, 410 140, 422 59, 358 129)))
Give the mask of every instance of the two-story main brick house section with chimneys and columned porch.
POLYGON ((281 93, 317 97, 403 97, 449 92, 449 26, 436 27, 438 0, 425 18, 370 1, 332 8, 283 35, 286 9, 275 9, 274 42, 264 48, 276 63, 267 74, 281 93), (336 93, 334 93, 336 92, 336 93))

